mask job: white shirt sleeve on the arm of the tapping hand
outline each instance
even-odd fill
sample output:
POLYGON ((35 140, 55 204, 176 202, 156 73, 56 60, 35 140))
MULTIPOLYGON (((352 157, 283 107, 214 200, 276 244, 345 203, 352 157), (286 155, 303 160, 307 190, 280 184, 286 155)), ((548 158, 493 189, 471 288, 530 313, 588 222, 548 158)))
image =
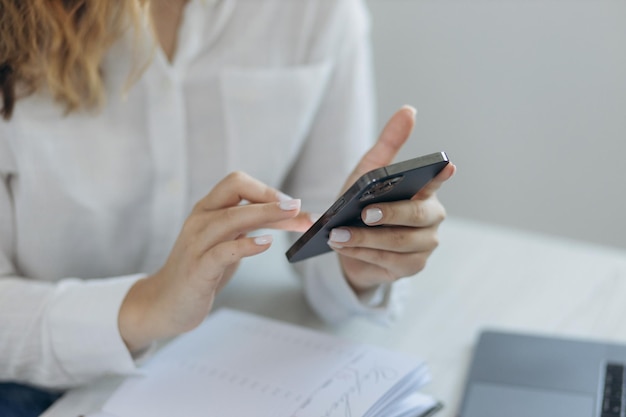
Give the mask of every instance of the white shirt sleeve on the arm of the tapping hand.
POLYGON ((0 380, 67 388, 135 363, 119 334, 118 312, 141 278, 63 279, 20 276, 14 262, 11 154, 0 137, 0 380))

